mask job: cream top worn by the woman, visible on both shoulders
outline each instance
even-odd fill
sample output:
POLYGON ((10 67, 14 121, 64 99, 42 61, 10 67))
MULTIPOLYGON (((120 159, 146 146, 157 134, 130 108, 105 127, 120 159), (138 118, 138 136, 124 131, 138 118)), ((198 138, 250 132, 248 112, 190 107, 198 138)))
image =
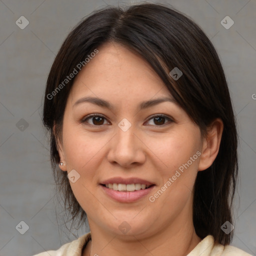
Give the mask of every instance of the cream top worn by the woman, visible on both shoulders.
MULTIPOLYGON (((48 250, 33 256, 81 256, 83 247, 91 239, 90 232, 76 240, 63 244, 57 250, 48 250)), ((214 243, 212 235, 203 238, 187 256, 252 256, 247 252, 230 245, 214 243)))

